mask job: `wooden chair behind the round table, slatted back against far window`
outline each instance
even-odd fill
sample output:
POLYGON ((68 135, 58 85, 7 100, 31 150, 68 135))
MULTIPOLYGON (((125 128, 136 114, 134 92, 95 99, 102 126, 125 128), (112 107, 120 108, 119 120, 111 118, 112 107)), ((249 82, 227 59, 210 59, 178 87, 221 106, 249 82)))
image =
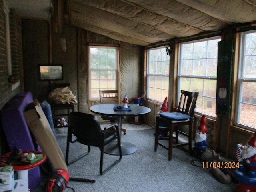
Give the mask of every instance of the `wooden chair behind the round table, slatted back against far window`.
MULTIPOLYGON (((100 104, 114 103, 119 104, 118 90, 100 90, 100 104)), ((116 116, 102 115, 103 120, 109 120, 111 124, 117 121, 116 116)), ((126 134, 126 129, 121 130, 126 134)))

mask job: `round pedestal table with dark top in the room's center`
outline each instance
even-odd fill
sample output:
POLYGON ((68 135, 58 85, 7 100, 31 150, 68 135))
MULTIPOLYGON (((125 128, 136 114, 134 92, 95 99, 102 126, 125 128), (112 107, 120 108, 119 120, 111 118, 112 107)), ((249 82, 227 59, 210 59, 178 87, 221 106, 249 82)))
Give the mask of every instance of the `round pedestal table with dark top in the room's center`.
MULTIPOLYGON (((122 129, 122 117, 144 115, 151 112, 150 108, 136 105, 136 104, 130 104, 130 105, 128 104, 131 111, 114 111, 114 107, 116 106, 122 106, 122 104, 94 105, 90 107, 90 111, 100 115, 109 115, 109 116, 118 117, 118 129, 120 134, 120 140, 121 140, 121 129, 122 129)), ((122 141, 121 141, 121 148, 122 148, 122 155, 132 154, 138 150, 138 148, 134 144, 129 142, 122 142, 122 141)), ((106 154, 119 155, 117 142, 113 142, 112 144, 108 145, 105 148, 104 152, 106 154)))

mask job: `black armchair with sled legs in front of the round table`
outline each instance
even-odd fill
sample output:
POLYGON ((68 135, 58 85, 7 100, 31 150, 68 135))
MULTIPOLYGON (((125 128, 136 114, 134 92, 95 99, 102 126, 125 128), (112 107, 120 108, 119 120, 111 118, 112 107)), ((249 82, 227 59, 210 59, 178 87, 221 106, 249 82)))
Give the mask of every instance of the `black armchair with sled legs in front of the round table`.
POLYGON ((118 126, 115 124, 108 126, 108 128, 113 127, 116 131, 102 130, 100 128, 100 124, 96 116, 92 114, 82 113, 82 112, 72 112, 68 115, 69 127, 68 127, 68 140, 67 140, 67 148, 66 148, 66 163, 72 164, 76 160, 82 158, 83 156, 89 154, 90 146, 97 146, 100 148, 100 174, 106 173, 113 166, 115 166, 118 162, 121 161, 122 158, 122 150, 121 150, 121 142, 120 142, 120 134, 118 126), (72 140, 72 135, 76 137, 75 140, 72 140), (112 143, 115 140, 118 140, 118 148, 119 148, 119 159, 116 160, 113 164, 108 166, 105 170, 103 170, 103 156, 104 156, 104 148, 108 146, 108 144, 112 143), (81 144, 88 146, 88 152, 82 154, 78 158, 72 160, 68 163, 68 153, 69 153, 69 144, 79 142, 81 144))

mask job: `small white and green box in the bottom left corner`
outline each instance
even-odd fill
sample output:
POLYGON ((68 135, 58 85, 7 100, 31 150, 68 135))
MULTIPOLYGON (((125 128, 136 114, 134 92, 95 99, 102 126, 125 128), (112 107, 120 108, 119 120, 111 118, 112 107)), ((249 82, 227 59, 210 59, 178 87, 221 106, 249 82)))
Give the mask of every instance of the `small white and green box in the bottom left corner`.
POLYGON ((12 166, 0 167, 0 192, 14 190, 14 171, 12 166))

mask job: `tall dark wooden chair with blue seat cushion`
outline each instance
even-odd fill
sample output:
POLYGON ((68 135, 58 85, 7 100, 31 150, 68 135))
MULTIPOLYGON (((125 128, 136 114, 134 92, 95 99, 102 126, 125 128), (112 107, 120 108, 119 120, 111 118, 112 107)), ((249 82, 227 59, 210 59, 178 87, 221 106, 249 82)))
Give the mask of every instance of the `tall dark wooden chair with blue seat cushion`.
MULTIPOLYGON (((155 148, 160 145, 168 150, 168 160, 172 160, 172 148, 179 146, 189 146, 189 151, 192 154, 192 133, 193 133, 193 122, 194 122, 194 108, 196 106, 196 100, 198 92, 189 92, 181 90, 180 102, 178 110, 176 112, 160 113, 156 117, 156 132, 155 132, 155 148), (169 128, 169 136, 159 137, 159 125, 164 124, 169 128), (178 130, 179 126, 188 126, 188 133, 178 130), (175 136, 173 133, 175 131, 175 136), (188 142, 179 143, 178 134, 182 134, 188 137, 188 142), (173 139, 175 138, 175 144, 173 139), (159 140, 169 140, 168 146, 159 142, 159 140)), ((162 125, 161 125, 162 126, 162 125)))

